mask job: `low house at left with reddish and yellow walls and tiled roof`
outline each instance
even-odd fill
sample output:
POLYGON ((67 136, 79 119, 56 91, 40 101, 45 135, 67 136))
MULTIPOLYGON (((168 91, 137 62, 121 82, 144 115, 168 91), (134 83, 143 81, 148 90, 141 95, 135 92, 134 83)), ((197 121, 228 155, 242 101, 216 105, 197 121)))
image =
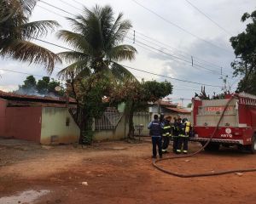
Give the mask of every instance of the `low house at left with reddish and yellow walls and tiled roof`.
POLYGON ((79 127, 68 111, 74 99, 20 95, 0 91, 0 137, 40 144, 69 144, 79 127))

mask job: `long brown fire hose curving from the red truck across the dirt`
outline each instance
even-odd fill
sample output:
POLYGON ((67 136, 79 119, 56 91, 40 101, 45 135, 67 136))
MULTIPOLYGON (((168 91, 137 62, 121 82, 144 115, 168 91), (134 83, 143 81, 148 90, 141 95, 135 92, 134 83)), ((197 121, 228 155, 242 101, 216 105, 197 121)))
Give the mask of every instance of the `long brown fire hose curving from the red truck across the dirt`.
POLYGON ((157 165, 157 163, 160 162, 160 161, 174 160, 174 159, 188 158, 188 157, 191 157, 191 156, 195 156, 195 155, 199 154, 202 150, 204 150, 204 148, 212 141, 212 138, 213 138, 213 137, 215 136, 215 134, 217 133, 219 124, 220 124, 221 120, 222 120, 223 117, 224 117, 224 113, 225 113, 225 111, 227 110, 228 106, 230 105, 231 100, 234 99, 234 98, 235 98, 235 96, 233 95, 233 96, 228 100, 227 104, 224 106, 224 111, 222 112, 221 116, 219 117, 218 124, 217 124, 217 126, 215 127, 215 129, 213 130, 210 139, 208 139, 207 143, 204 144, 204 145, 201 147, 200 150, 197 150, 197 151, 195 151, 194 153, 189 154, 189 155, 185 155, 185 156, 168 156, 168 157, 165 157, 165 158, 161 158, 161 159, 158 159, 158 160, 154 160, 154 161, 152 162, 153 166, 156 167, 158 170, 160 170, 160 171, 163 172, 163 173, 167 173, 167 174, 170 174, 170 175, 173 175, 173 176, 177 176, 177 177, 180 177, 180 178, 193 178, 193 177, 217 176, 217 175, 223 175, 223 174, 227 174, 227 173, 256 172, 256 168, 246 168, 246 169, 232 169, 232 170, 220 171, 220 172, 212 172, 212 173, 189 173, 189 174, 185 174, 185 173, 176 173, 176 172, 167 170, 167 169, 165 169, 165 168, 160 167, 160 166, 157 165))

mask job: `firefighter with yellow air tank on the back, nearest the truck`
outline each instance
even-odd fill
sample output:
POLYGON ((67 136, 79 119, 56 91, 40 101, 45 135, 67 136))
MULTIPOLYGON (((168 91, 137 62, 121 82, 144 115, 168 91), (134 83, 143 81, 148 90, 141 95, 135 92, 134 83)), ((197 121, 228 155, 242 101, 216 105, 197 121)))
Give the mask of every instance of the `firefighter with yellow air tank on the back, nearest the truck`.
POLYGON ((180 127, 180 130, 178 134, 177 153, 179 154, 183 150, 183 153, 187 154, 191 124, 187 118, 183 118, 183 122, 179 127, 180 127))

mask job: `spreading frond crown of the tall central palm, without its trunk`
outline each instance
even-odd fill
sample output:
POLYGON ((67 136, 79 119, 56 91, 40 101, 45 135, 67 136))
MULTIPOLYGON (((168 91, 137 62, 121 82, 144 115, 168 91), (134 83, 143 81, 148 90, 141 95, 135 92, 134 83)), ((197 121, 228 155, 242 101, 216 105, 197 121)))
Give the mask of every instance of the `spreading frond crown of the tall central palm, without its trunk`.
POLYGON ((110 6, 96 5, 91 10, 84 8, 84 14, 74 19, 67 18, 73 26, 73 31, 59 31, 58 37, 71 46, 74 51, 59 53, 61 59, 71 63, 59 72, 61 77, 67 77, 71 72, 75 75, 111 71, 114 77, 123 79, 133 77, 130 71, 119 65, 123 59, 134 59, 136 48, 120 44, 131 28, 129 20, 122 20, 120 13, 117 19, 113 17, 110 6))

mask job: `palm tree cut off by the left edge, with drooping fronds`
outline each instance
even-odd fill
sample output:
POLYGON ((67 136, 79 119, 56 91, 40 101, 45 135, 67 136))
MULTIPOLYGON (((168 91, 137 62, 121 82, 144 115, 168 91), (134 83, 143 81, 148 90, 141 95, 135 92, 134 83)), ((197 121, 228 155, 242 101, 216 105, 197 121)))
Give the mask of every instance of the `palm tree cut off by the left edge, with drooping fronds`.
POLYGON ((0 0, 0 56, 44 64, 51 73, 61 59, 31 40, 43 37, 59 24, 54 20, 29 22, 36 3, 35 0, 0 0))

